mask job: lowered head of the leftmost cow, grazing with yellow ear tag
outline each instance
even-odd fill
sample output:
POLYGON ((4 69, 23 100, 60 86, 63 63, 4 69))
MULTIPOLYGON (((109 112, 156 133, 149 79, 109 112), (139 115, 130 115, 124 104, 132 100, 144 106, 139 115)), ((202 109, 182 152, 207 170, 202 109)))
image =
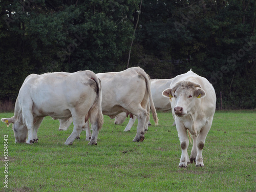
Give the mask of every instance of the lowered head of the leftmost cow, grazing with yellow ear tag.
POLYGON ((22 117, 21 119, 16 119, 14 116, 11 118, 2 118, 1 119, 7 126, 9 126, 11 123, 12 130, 14 132, 15 137, 15 143, 25 143, 28 136, 28 129, 23 124, 22 117))

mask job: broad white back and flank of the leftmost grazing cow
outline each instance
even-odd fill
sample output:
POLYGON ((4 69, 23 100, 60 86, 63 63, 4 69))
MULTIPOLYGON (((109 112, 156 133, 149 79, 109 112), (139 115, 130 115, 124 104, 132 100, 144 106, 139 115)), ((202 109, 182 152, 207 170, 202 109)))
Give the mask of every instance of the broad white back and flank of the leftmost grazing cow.
MULTIPOLYGON (((90 73, 92 72, 32 74, 26 78, 20 88, 19 103, 26 104, 30 97, 33 102, 33 113, 36 115, 58 118, 56 114, 61 114, 69 117, 72 108, 83 103, 87 98, 95 99, 97 95, 96 91, 92 91, 97 85, 88 77, 90 73)), ((93 103, 93 100, 87 102, 93 103)))

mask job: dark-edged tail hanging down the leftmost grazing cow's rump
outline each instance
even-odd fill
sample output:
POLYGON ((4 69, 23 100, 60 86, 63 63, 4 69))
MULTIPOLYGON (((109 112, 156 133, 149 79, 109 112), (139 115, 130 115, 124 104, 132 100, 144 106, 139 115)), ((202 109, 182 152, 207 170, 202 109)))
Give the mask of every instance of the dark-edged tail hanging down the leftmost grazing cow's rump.
POLYGON ((102 110, 101 110, 101 103, 102 103, 101 82, 100 82, 100 79, 93 72, 90 73, 89 78, 94 80, 97 84, 97 88, 96 88, 97 98, 94 102, 94 105, 98 106, 97 117, 98 117, 98 129, 100 130, 103 125, 103 114, 102 114, 102 110))

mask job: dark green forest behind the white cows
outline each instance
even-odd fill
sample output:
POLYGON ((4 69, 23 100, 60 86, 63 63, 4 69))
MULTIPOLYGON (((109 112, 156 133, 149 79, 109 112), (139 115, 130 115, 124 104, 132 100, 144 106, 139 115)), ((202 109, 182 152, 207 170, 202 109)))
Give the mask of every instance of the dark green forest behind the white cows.
POLYGON ((152 79, 191 68, 217 109, 220 92, 223 109, 255 109, 255 26, 255 0, 0 0, 0 99, 31 73, 140 66, 152 79))

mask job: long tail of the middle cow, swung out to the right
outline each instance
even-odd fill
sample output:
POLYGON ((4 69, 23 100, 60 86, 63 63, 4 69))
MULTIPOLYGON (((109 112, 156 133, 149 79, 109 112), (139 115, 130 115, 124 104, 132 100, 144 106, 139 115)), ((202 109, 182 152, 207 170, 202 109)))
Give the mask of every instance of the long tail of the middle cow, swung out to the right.
POLYGON ((140 75, 142 75, 145 80, 146 80, 146 90, 148 95, 150 96, 150 106, 151 106, 151 111, 152 111, 152 116, 155 122, 155 125, 158 125, 158 118, 157 118, 157 112, 156 112, 156 108, 153 102, 153 98, 152 98, 152 94, 151 94, 151 82, 150 82, 150 76, 146 74, 146 72, 142 69, 140 69, 138 71, 138 73, 140 75))

